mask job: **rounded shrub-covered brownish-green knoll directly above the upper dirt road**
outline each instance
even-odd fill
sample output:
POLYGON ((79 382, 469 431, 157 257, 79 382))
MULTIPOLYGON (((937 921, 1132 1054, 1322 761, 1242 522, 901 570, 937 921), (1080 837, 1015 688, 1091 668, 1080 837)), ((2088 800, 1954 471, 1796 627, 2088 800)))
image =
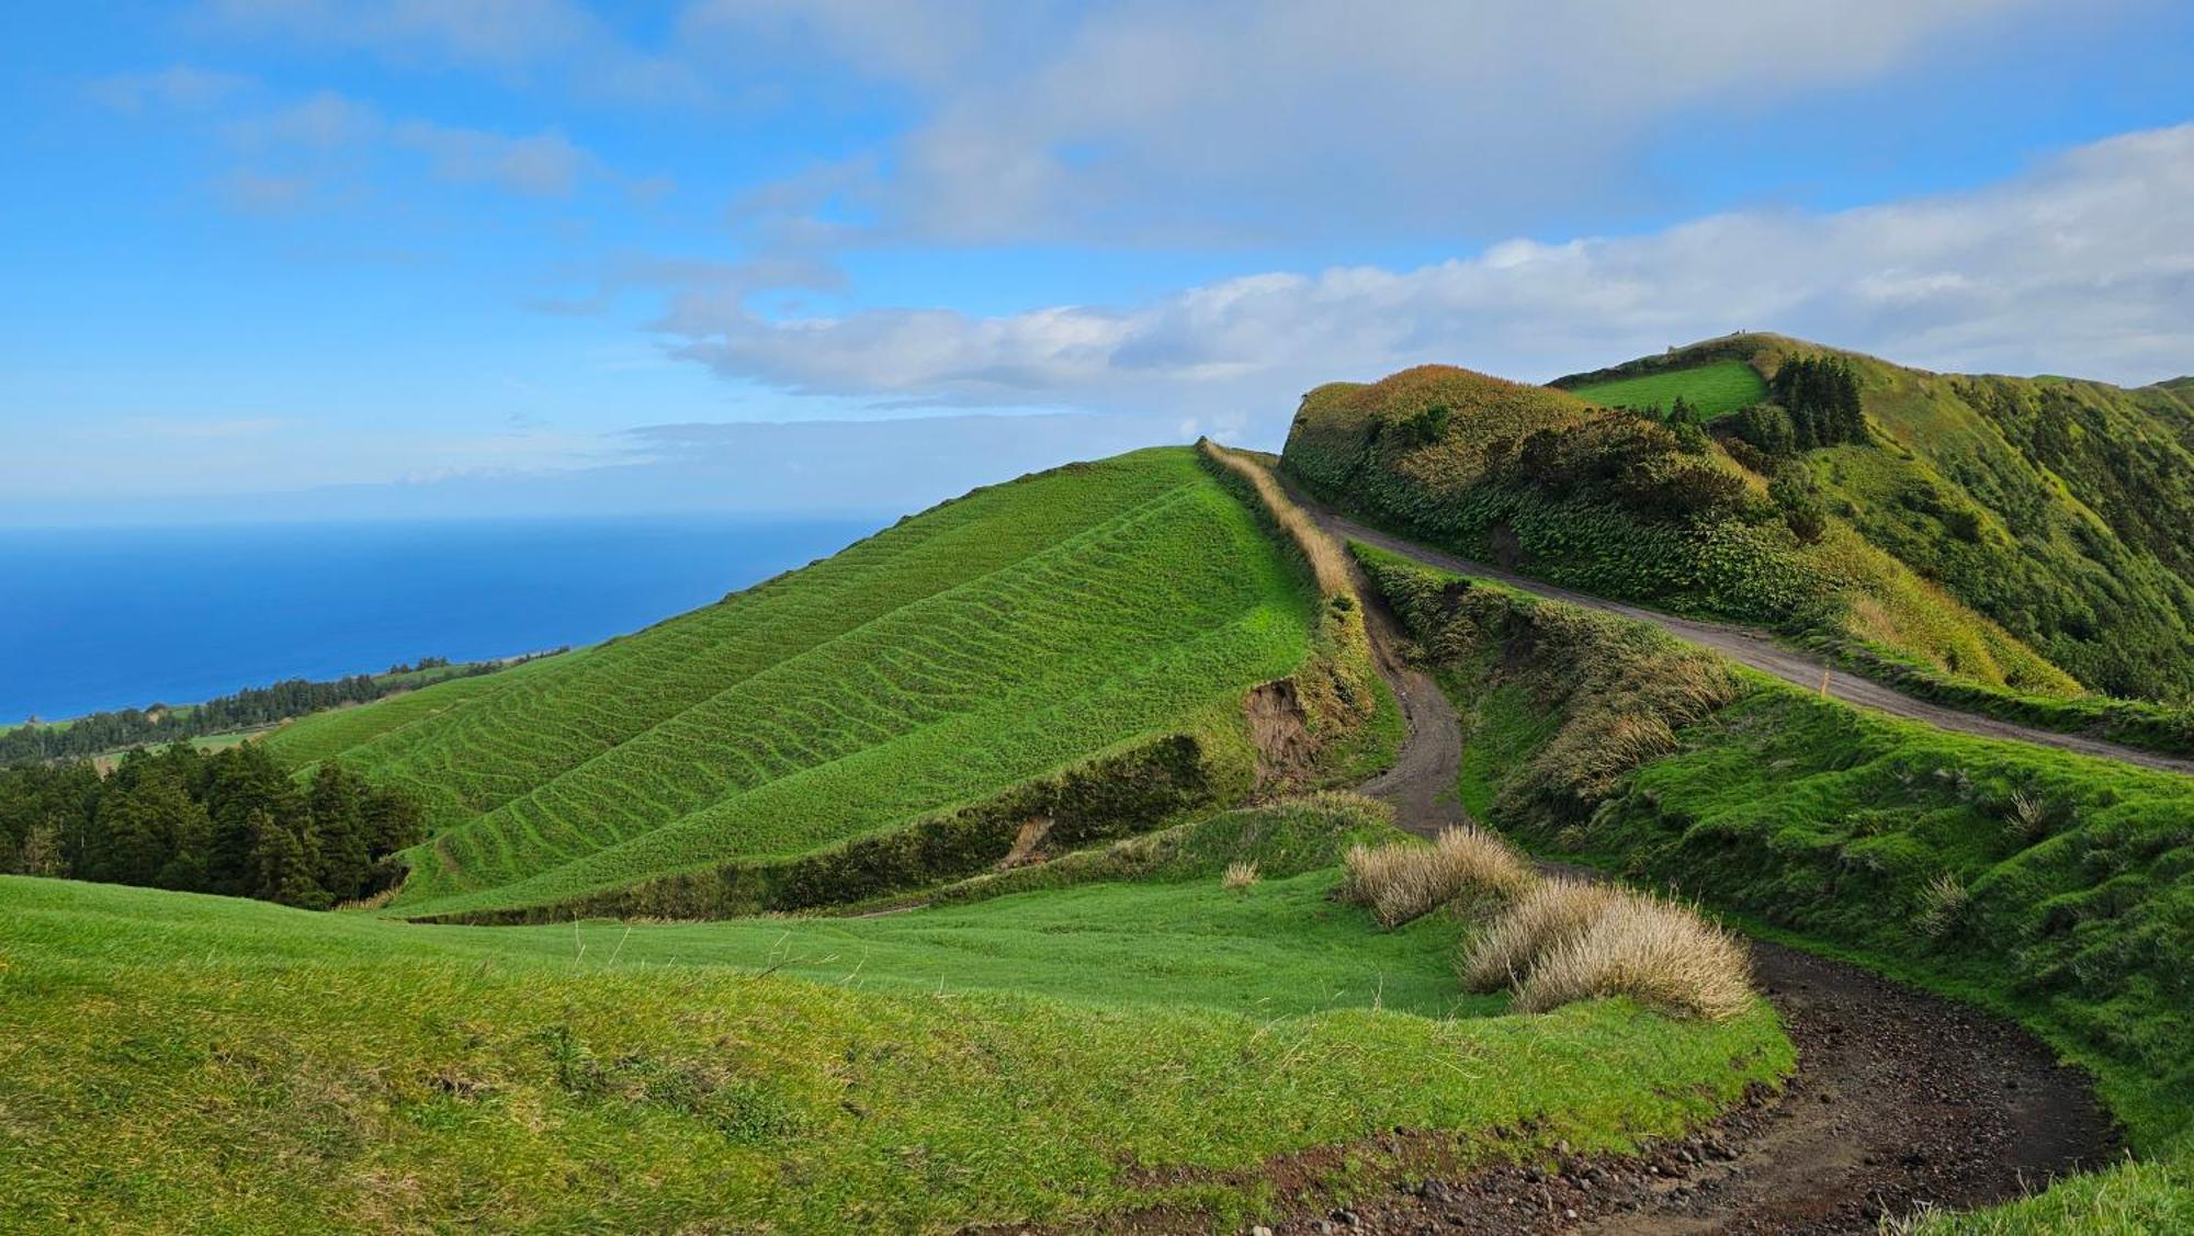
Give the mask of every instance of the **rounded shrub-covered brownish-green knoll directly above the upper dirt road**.
POLYGON ((2078 690, 1720 443, 1564 390, 1450 366, 1321 386, 1303 397, 1283 467, 1343 511, 1580 592, 1882 649, 2034 697, 2078 690))

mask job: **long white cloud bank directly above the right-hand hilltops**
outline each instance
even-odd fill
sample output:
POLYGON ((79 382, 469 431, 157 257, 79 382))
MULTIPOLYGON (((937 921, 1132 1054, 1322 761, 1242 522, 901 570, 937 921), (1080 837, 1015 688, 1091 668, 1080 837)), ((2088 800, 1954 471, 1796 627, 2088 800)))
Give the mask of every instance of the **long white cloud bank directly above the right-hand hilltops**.
POLYGON ((1255 274, 1141 307, 766 320, 685 302, 665 327, 687 359, 810 394, 1257 410, 1268 425, 1336 377, 1439 359, 1545 379, 1731 329, 1931 368, 2150 381, 2194 368, 2194 125, 1972 193, 1507 241, 1402 272, 1255 274))

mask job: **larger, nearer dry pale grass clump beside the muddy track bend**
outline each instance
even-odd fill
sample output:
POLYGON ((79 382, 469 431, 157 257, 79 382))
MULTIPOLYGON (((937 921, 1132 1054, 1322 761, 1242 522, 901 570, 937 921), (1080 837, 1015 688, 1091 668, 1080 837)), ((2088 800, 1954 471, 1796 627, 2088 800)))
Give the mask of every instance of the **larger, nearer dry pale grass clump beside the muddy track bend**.
POLYGON ((1547 1012, 1608 995, 1718 1021, 1751 1006, 1751 960, 1742 942, 1689 907, 1624 892, 1531 964, 1514 1008, 1547 1012))

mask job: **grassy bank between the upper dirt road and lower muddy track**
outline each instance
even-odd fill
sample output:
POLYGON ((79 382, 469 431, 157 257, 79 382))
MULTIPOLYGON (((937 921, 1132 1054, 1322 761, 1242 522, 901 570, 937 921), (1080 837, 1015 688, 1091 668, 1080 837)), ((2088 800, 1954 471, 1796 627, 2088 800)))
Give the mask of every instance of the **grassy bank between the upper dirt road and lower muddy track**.
MULTIPOLYGON (((2194 1210, 2194 778, 1823 701, 1613 616, 1360 550, 1534 846, 1990 1004, 2089 1065, 2148 1155, 1970 1227, 2194 1210)), ((1472 785, 1477 780, 1477 785, 1472 785)), ((1964 1221, 1961 1221, 1964 1223, 1964 1221)))

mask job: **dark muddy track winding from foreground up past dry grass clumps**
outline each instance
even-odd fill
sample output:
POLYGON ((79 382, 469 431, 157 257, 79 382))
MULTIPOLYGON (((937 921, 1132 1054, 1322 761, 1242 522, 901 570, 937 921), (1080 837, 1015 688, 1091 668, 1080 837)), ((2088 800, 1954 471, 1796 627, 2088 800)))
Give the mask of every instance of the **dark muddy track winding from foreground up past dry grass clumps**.
MULTIPOLYGON (((1330 528, 1395 543, 1345 522, 1330 528)), ((1365 598, 1409 739, 1398 765, 1362 791, 1433 835, 1463 817, 1461 730, 1437 684, 1404 664, 1393 618, 1369 590, 1365 598)), ((1755 1094, 1711 1129, 1641 1155, 1560 1155, 1551 1172, 1503 1166, 1430 1179, 1349 1210, 1294 1214, 1277 1229, 1874 1232, 1885 1216, 2005 1201, 2115 1155, 2115 1129, 2086 1076, 2060 1067, 2018 1026, 1845 962, 1760 940, 1751 949, 1753 977, 1799 1048, 1779 1096, 1755 1094)))

